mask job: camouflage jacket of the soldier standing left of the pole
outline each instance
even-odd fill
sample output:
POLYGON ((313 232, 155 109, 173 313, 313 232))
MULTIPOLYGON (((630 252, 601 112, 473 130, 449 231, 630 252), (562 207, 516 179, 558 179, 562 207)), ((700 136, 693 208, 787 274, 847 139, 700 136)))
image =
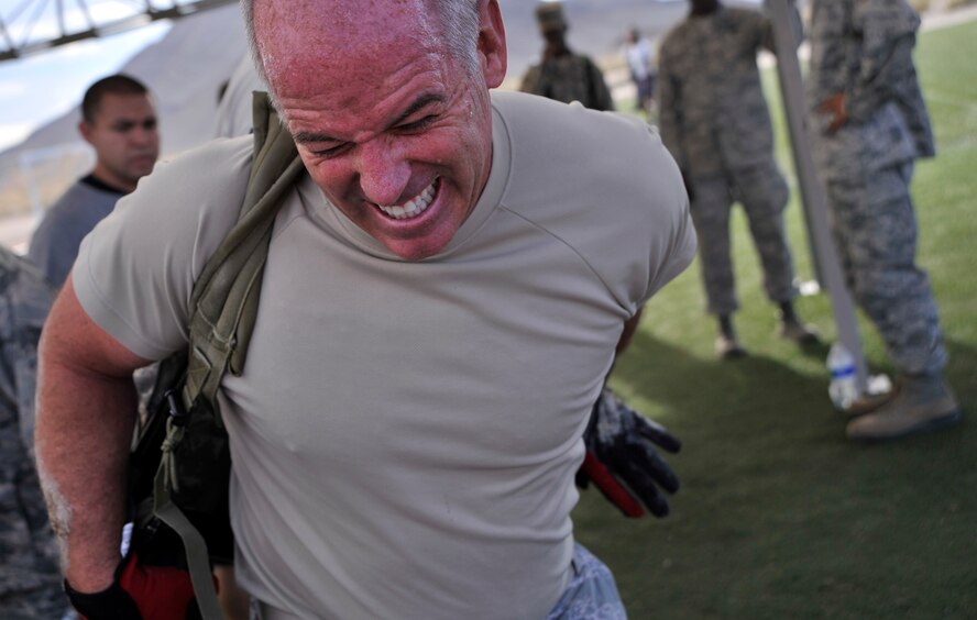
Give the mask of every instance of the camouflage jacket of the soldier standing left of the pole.
MULTIPOLYGON (((800 18, 795 18, 800 31, 800 18)), ((762 13, 720 7, 666 34, 658 55, 661 139, 691 176, 723 174, 773 156, 757 53, 773 49, 762 13)))

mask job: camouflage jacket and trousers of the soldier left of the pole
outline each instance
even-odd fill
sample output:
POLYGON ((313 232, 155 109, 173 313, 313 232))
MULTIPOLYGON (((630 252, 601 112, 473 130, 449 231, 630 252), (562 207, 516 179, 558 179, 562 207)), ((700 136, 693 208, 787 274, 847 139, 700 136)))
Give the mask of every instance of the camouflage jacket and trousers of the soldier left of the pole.
MULTIPOLYGON (((797 20, 800 27, 800 18, 797 20)), ((773 130, 756 55, 772 49, 762 14, 728 7, 690 15, 665 37, 658 57, 661 139, 690 189, 707 310, 737 308, 729 258, 729 211, 738 200, 764 268, 767 296, 797 295, 783 226, 789 189, 773 160, 773 130)))

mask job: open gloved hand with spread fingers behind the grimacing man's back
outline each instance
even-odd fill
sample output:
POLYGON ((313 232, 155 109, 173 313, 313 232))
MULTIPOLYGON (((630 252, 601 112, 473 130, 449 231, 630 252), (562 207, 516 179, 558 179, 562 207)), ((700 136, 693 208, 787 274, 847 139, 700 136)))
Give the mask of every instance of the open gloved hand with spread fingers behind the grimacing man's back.
POLYGON ((583 442, 586 456, 577 474, 578 485, 586 488, 593 480, 626 517, 643 516, 643 505, 656 517, 668 514, 668 502, 658 487, 673 494, 679 490, 679 478, 654 445, 677 453, 682 444, 665 427, 604 388, 591 411, 583 442))

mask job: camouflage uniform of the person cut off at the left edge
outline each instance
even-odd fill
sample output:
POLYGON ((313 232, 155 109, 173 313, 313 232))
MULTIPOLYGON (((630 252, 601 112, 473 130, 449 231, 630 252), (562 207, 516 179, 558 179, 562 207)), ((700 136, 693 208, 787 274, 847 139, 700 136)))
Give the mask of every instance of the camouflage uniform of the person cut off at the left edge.
POLYGON ((57 546, 34 469, 36 346, 52 290, 0 247, 0 618, 67 611, 57 546))

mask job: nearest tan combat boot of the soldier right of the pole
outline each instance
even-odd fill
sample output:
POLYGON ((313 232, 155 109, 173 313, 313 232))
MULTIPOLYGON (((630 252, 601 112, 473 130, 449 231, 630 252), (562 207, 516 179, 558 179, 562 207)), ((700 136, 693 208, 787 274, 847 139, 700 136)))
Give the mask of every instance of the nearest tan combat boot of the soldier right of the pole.
POLYGON ((891 400, 848 422, 848 439, 880 441, 958 422, 960 409, 940 375, 903 376, 891 400))

